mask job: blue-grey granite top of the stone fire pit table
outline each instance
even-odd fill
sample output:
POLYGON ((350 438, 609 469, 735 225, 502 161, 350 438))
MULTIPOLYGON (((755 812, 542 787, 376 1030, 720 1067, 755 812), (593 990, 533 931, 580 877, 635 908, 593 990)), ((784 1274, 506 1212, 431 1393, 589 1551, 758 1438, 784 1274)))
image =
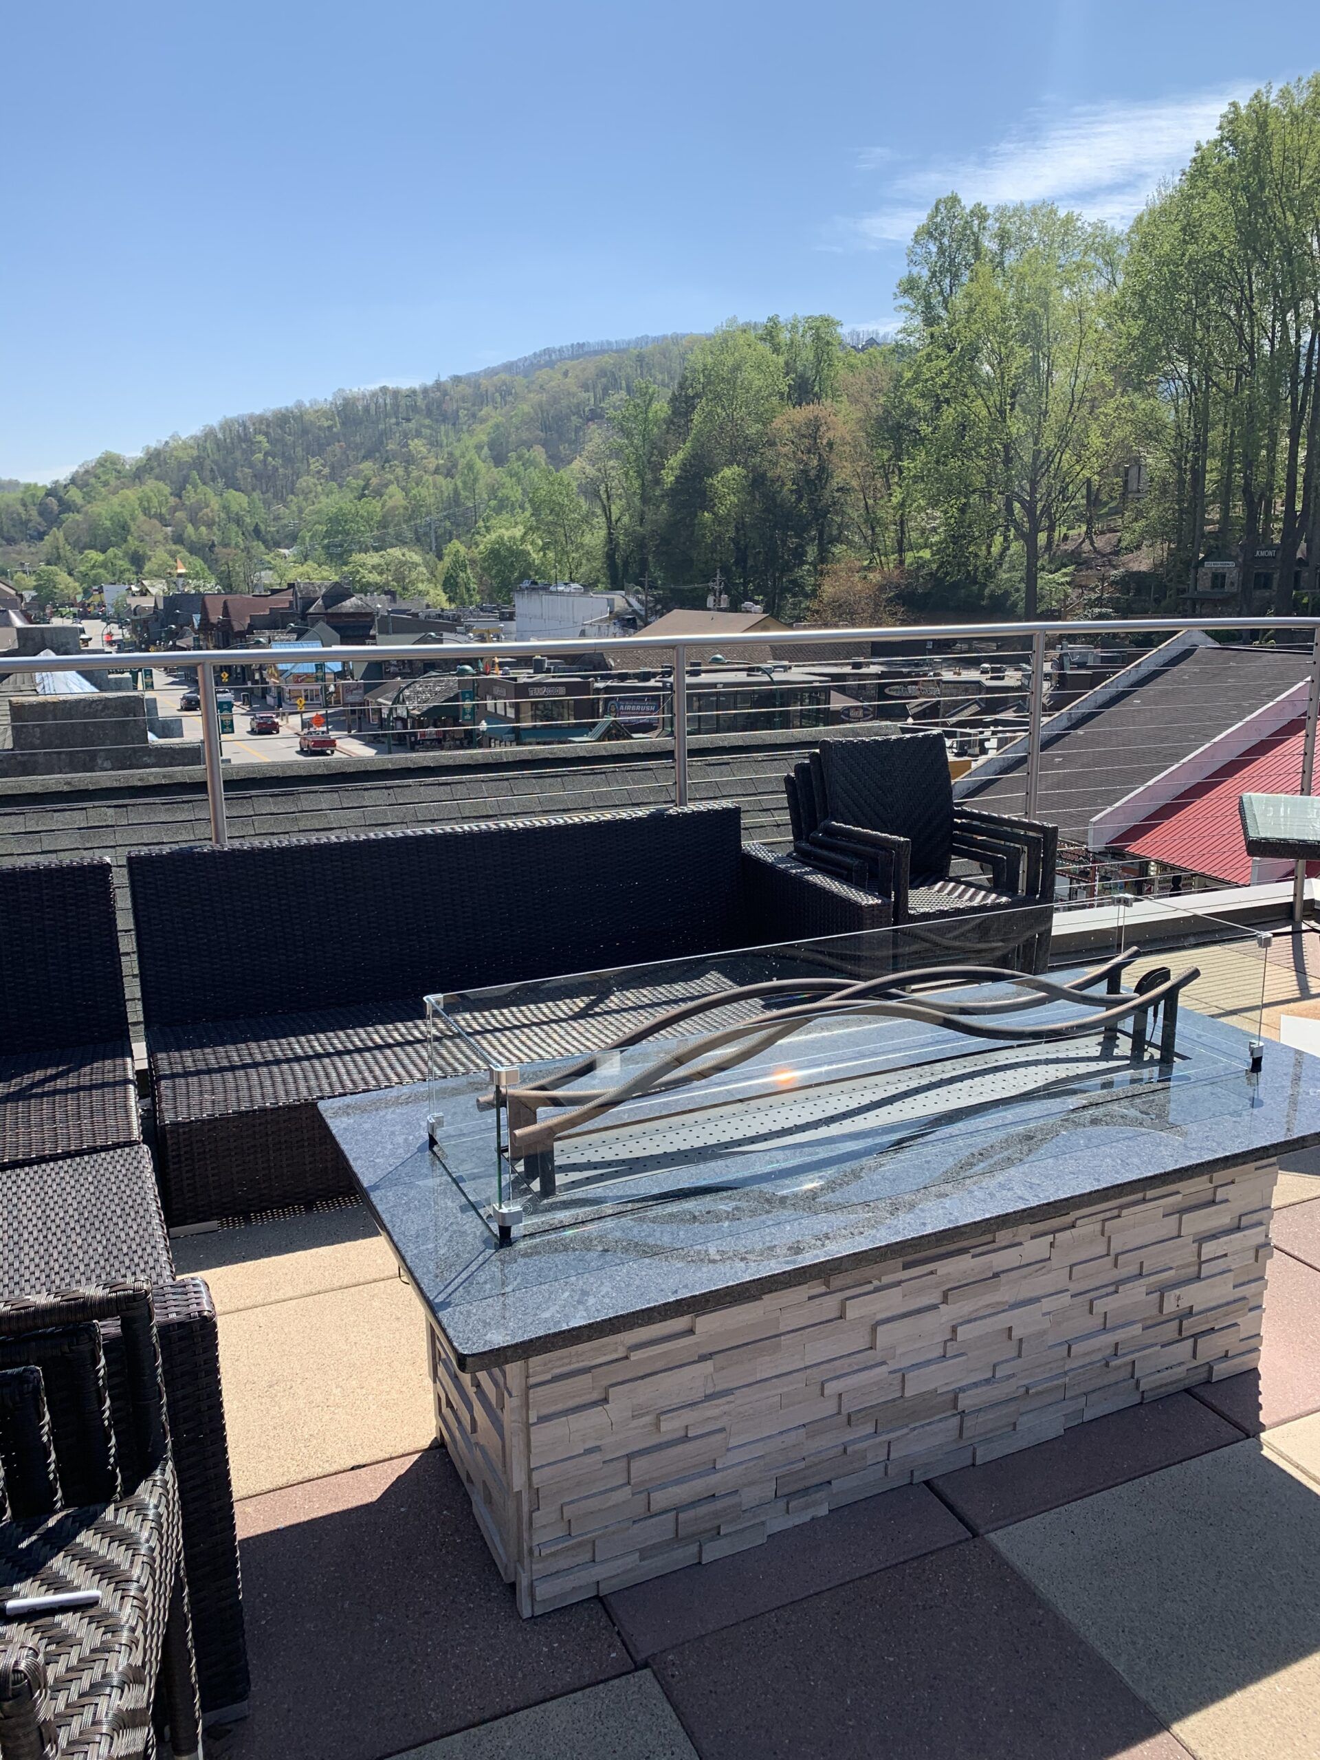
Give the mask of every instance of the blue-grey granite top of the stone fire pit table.
MULTIPOLYGON (((956 1072, 949 1081, 924 1118, 882 1109, 841 1123, 813 1167, 771 1156, 736 1188, 616 1206, 510 1246, 431 1153, 426 1084, 324 1100, 320 1112, 465 1369, 1320 1142, 1320 1060, 1265 1044, 1253 1075, 1248 1035, 1192 1008, 1179 1012, 1172 1072, 1118 1060, 970 1105, 956 1072)), ((486 1086, 475 1074, 445 1082, 445 1119, 486 1086)))

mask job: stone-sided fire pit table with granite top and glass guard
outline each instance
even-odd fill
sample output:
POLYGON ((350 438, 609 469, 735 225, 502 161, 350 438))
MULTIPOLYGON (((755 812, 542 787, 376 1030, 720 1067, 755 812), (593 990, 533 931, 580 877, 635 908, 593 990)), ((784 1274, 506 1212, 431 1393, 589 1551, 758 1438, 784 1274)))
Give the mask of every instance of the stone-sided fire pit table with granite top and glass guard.
POLYGON ((523 1614, 1257 1364, 1320 1065, 994 915, 431 998, 322 1104, 523 1614))

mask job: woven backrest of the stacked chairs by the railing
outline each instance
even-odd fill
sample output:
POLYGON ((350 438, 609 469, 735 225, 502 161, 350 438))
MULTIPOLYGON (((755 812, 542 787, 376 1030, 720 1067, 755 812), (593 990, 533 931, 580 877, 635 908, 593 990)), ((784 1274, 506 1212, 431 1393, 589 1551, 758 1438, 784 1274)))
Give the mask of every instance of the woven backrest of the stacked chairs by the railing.
POLYGON ((822 739, 820 764, 831 818, 908 838, 910 871, 947 878, 954 788, 943 734, 822 739))

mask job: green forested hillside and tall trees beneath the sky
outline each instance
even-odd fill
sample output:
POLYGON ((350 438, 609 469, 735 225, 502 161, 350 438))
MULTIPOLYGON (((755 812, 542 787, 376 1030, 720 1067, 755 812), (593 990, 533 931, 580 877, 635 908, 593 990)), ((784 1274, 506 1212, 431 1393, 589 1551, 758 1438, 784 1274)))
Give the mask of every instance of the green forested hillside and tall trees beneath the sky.
POLYGON ((104 454, 0 489, 0 563, 53 602, 180 560, 451 602, 720 570, 878 621, 1172 602, 1271 542, 1287 609, 1320 554, 1320 76, 1232 106, 1126 232, 943 197, 898 294, 878 347, 730 320, 104 454))

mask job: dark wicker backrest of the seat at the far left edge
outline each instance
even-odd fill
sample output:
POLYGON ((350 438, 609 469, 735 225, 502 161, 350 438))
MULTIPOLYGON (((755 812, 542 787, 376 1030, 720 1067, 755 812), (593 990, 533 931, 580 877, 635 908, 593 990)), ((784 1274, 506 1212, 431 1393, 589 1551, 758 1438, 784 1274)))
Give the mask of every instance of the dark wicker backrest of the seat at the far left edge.
POLYGON ((0 868, 0 1056, 128 1038, 111 864, 0 868))

